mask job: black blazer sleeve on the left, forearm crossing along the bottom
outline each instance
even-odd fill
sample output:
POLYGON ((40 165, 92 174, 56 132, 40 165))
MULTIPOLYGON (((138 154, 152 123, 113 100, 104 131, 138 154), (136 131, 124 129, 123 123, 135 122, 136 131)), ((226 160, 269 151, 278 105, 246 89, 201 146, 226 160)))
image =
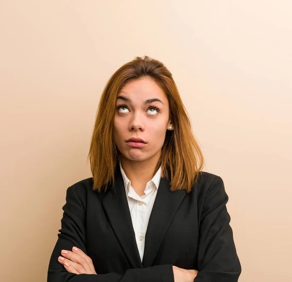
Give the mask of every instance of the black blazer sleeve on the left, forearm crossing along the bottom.
POLYGON ((155 265, 146 268, 128 269, 124 274, 75 274, 68 272, 58 262, 61 250, 72 250, 73 246, 86 250, 86 197, 78 197, 73 186, 66 192, 66 203, 62 207, 63 217, 58 239, 52 252, 47 282, 174 282, 171 264, 155 265))

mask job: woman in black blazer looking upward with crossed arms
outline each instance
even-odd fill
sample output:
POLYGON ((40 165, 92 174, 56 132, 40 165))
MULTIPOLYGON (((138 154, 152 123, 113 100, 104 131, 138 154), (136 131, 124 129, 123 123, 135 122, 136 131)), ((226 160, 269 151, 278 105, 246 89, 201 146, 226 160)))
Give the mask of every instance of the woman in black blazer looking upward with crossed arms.
POLYGON ((238 280, 223 181, 202 171, 163 63, 137 57, 112 75, 89 159, 93 177, 67 189, 48 282, 238 280))

